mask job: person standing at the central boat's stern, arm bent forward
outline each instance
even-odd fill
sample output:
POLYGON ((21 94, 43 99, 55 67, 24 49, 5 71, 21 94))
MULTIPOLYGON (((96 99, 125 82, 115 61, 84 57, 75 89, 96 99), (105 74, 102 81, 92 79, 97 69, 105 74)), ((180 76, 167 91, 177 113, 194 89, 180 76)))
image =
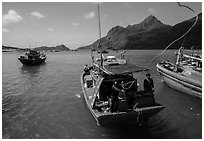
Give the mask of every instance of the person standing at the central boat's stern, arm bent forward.
POLYGON ((110 107, 110 111, 111 112, 117 112, 118 111, 118 107, 119 107, 119 92, 124 92, 123 89, 120 89, 120 85, 118 84, 117 81, 115 81, 113 83, 112 86, 112 95, 111 95, 111 107, 110 107))

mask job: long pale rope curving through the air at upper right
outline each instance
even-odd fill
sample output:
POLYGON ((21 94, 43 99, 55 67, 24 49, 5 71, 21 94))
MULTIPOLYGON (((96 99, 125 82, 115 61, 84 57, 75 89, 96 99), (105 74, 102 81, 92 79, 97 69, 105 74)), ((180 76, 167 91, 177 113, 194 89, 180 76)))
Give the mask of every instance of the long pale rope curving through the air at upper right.
POLYGON ((151 65, 151 63, 152 63, 157 57, 159 57, 160 55, 162 55, 172 44, 174 44, 175 42, 177 42, 178 40, 180 40, 181 38, 183 38, 184 36, 186 36, 186 35, 191 31, 191 29, 196 25, 196 23, 197 23, 197 21, 198 21, 198 15, 195 13, 195 11, 194 11, 193 9, 191 9, 190 7, 188 7, 188 6, 186 6, 186 5, 182 5, 182 4, 180 4, 179 2, 178 2, 178 5, 179 5, 180 7, 185 7, 185 8, 187 8, 187 9, 191 10, 191 11, 195 14, 196 20, 195 20, 194 24, 193 24, 182 36, 180 36, 179 38, 175 39, 175 40, 174 40, 173 42, 171 42, 160 54, 158 54, 157 56, 155 56, 155 57, 150 61, 150 63, 149 63, 149 65, 148 65, 147 68, 149 68, 150 65, 151 65))

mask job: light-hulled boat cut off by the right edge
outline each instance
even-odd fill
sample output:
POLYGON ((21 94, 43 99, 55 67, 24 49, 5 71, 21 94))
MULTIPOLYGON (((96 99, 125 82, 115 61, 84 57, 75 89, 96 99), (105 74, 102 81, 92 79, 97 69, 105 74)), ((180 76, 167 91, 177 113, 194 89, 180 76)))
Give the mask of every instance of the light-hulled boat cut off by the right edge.
POLYGON ((171 88, 202 98, 202 58, 198 53, 184 53, 181 47, 176 63, 164 61, 157 63, 157 71, 171 88))

